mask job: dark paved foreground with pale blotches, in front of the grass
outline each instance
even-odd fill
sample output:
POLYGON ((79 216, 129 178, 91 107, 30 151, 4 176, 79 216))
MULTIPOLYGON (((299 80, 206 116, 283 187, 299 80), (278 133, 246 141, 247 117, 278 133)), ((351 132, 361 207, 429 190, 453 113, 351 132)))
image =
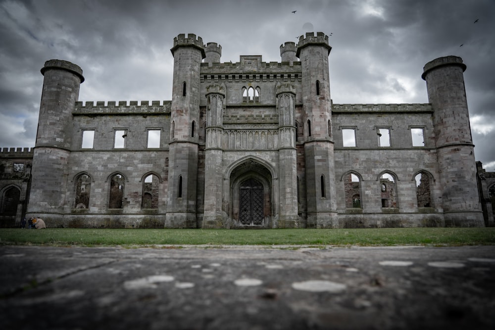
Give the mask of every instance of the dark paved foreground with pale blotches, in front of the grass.
POLYGON ((495 329, 495 246, 0 247, 0 329, 495 329))

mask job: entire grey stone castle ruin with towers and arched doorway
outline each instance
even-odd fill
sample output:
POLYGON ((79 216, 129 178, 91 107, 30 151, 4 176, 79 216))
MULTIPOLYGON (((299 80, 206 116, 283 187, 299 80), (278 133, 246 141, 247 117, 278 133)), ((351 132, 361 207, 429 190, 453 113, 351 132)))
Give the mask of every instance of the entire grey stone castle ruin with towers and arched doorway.
POLYGON ((334 104, 331 49, 306 33, 280 62, 221 63, 220 45, 180 34, 172 100, 151 103, 83 103, 81 68, 47 61, 36 146, 0 152, 0 226, 493 225, 462 59, 425 65, 429 103, 334 104))

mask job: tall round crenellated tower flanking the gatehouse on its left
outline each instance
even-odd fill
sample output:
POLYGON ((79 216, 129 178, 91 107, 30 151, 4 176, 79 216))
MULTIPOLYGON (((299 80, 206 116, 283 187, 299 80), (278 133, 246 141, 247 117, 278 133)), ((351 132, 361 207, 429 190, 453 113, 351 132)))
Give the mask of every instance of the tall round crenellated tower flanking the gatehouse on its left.
POLYGON ((168 207, 165 227, 197 228, 199 70, 205 57, 196 35, 174 38, 168 207))

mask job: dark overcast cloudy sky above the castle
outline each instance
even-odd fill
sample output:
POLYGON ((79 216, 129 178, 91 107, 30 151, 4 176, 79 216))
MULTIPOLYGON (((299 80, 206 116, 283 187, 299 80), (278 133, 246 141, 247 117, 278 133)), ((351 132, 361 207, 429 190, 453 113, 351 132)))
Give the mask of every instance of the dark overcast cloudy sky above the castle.
POLYGON ((0 0, 0 147, 34 146, 49 59, 83 69, 81 101, 170 100, 178 34, 268 62, 312 27, 332 34, 334 103, 427 103, 423 66, 462 57, 476 160, 495 171, 494 15, 494 0, 0 0))

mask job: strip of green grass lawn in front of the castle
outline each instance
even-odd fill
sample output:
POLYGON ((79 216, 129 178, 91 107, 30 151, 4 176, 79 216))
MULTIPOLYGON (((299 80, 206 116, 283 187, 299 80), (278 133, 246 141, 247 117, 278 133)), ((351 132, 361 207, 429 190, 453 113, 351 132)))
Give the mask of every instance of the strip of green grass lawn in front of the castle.
POLYGON ((0 229, 0 245, 495 245, 495 228, 0 229))

